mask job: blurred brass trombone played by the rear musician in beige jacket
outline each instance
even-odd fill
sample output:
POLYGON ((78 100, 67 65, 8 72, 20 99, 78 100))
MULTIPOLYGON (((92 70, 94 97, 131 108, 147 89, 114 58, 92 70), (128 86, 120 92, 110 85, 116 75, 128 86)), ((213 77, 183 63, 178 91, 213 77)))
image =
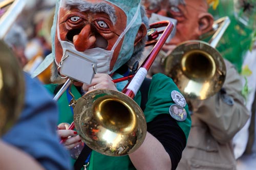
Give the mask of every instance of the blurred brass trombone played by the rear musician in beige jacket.
POLYGON ((214 22, 209 43, 189 40, 165 58, 165 75, 171 77, 187 99, 204 100, 218 92, 226 77, 226 66, 216 46, 230 23, 228 17, 214 22))

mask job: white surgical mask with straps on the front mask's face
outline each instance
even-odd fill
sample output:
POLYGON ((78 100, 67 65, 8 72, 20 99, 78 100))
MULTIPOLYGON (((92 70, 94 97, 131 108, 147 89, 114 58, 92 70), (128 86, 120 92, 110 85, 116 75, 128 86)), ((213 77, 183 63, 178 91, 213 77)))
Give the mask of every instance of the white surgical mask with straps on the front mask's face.
MULTIPOLYGON (((60 1, 59 8, 61 7, 61 4, 62 4, 62 0, 60 1)), ((104 50, 103 48, 98 48, 98 47, 88 49, 84 52, 76 51, 74 44, 72 44, 68 41, 62 41, 60 39, 59 25, 58 25, 58 21, 57 21, 57 36, 58 36, 58 40, 59 40, 59 42, 62 46, 62 49, 63 49, 63 55, 65 54, 66 50, 72 49, 79 56, 83 56, 83 57, 88 58, 90 60, 96 60, 97 61, 97 67, 96 67, 97 72, 111 74, 112 72, 110 71, 110 62, 111 62, 111 59, 113 57, 115 48, 119 44, 119 42, 121 41, 121 39, 123 38, 125 33, 127 31, 129 31, 129 29, 132 27, 133 23, 135 22, 135 20, 138 16, 138 13, 139 13, 139 7, 140 6, 138 6, 138 9, 137 9, 133 19, 129 23, 129 25, 125 28, 125 30, 118 37, 118 39, 117 39, 116 43, 113 45, 111 51, 104 50)), ((59 20, 59 14, 58 14, 58 20, 59 20)), ((55 62, 56 62, 56 58, 55 58, 55 62)), ((56 62, 56 64, 59 65, 57 62, 56 62)))

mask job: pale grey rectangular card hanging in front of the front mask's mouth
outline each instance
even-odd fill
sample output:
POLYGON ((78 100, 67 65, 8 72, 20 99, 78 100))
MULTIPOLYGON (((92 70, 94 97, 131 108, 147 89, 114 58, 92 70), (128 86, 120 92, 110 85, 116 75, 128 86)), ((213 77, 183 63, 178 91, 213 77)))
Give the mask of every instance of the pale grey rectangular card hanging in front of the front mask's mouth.
POLYGON ((65 59, 60 67, 60 74, 78 82, 91 84, 96 73, 97 61, 78 55, 72 50, 65 52, 65 59))

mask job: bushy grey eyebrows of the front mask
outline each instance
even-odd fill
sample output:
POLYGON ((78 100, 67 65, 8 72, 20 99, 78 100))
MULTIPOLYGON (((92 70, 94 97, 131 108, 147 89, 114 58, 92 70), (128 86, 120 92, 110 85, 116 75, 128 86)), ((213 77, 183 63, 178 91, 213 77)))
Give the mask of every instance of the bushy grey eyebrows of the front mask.
POLYGON ((71 7, 77 8, 80 12, 104 12, 110 16, 113 25, 116 23, 115 8, 107 3, 93 4, 83 0, 66 0, 66 8, 70 9, 71 7))

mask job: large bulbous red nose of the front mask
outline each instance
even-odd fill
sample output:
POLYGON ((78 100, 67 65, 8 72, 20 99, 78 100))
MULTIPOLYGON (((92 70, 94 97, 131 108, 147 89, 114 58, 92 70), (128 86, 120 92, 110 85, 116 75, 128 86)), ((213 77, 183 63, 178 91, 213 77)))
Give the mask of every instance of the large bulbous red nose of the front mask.
POLYGON ((96 37, 92 32, 90 24, 84 26, 81 32, 73 37, 74 46, 79 52, 83 52, 89 48, 92 48, 95 42, 96 37))

